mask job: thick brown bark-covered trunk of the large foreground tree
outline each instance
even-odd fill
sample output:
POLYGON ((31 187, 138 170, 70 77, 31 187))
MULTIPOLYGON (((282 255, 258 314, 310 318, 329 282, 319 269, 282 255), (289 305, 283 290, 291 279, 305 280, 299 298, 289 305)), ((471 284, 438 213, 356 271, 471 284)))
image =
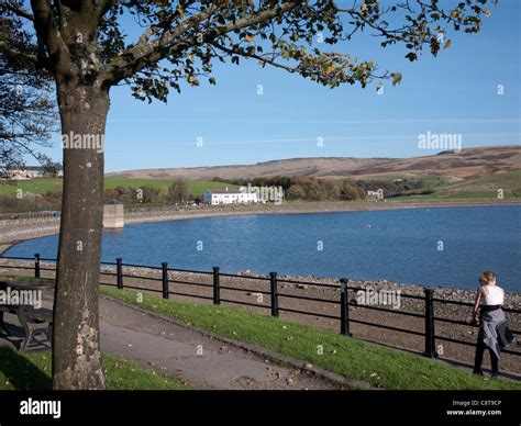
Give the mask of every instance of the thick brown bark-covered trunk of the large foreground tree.
POLYGON ((108 90, 57 72, 64 190, 54 301, 53 388, 106 389, 98 287, 103 216, 102 138, 108 90), (99 144, 97 143, 99 142, 99 144))

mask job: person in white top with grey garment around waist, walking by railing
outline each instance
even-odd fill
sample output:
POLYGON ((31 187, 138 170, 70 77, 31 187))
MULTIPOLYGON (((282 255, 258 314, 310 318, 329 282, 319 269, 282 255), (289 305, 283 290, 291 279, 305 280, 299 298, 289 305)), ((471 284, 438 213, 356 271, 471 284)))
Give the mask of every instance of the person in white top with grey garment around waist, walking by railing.
POLYGON ((474 360, 474 373, 483 375, 481 363, 485 349, 490 352, 491 375, 499 373, 499 354, 503 341, 498 335, 498 326, 506 325, 505 313, 501 305, 505 302, 505 291, 496 284, 496 274, 485 271, 479 277, 479 289, 476 294, 476 303, 473 311, 473 323, 476 323, 477 312, 483 300, 479 314, 479 333, 474 360))

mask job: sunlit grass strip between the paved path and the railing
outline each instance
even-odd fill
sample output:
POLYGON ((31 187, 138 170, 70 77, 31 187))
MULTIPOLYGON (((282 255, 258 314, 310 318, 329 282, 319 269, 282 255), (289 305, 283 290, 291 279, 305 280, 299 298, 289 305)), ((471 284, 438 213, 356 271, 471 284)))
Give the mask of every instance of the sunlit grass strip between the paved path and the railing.
POLYGON ((395 390, 521 390, 521 383, 487 379, 419 355, 288 323, 229 306, 189 304, 101 287, 110 295, 233 339, 270 348, 348 379, 395 390), (319 348, 323 348, 320 355, 319 348))

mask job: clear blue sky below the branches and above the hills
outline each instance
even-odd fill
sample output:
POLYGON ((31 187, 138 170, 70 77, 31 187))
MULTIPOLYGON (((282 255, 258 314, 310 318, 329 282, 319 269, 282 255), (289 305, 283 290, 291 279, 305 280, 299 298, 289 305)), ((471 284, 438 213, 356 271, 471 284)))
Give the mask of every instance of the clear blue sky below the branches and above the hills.
MULTIPOLYGON (((385 81, 383 94, 376 86, 324 88, 256 61, 215 64, 217 86, 182 87, 166 105, 140 102, 128 88, 114 88, 106 169, 411 157, 435 153, 418 148, 419 134, 428 131, 461 134, 464 148, 519 144, 520 15, 518 0, 501 0, 480 33, 450 34, 452 45, 437 58, 425 53, 412 64, 401 48, 384 51, 368 34, 333 48, 402 72, 402 83, 392 88, 385 81)), ((54 139, 48 154, 60 160, 58 135, 54 139)))

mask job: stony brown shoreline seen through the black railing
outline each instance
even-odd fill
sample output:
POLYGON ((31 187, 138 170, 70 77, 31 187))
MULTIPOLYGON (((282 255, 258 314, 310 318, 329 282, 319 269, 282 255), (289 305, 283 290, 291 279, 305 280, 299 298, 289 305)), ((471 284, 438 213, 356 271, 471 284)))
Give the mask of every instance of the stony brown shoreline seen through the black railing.
MULTIPOLYGON (((55 264, 44 261, 42 265, 45 268, 42 270, 42 277, 54 278, 55 264)), ((0 262, 0 272, 14 276, 32 276, 34 273, 31 270, 33 266, 34 262, 31 260, 4 259, 0 262), (16 270, 13 272, 10 266, 14 265, 29 267, 29 270, 16 270)), ((111 272, 111 274, 103 276, 102 283, 115 285, 115 267, 102 266, 101 270, 103 272, 111 272)), ((290 322, 337 333, 340 329, 339 311, 341 306, 339 281, 336 279, 318 277, 295 276, 291 279, 289 278, 289 276, 280 276, 279 279, 278 294, 280 298, 279 309, 281 310, 281 316, 290 322), (308 314, 301 315, 302 312, 308 314)), ((186 303, 212 303, 212 274, 170 270, 168 279, 174 285, 170 287, 173 299, 186 303), (201 299, 206 299, 206 301, 201 301, 201 299)), ((136 266, 124 267, 124 288, 155 295, 160 300, 160 281, 162 271, 159 269, 136 266)), ((225 304, 242 303, 241 309, 269 315, 270 296, 262 296, 262 294, 269 294, 270 292, 270 282, 266 279, 266 276, 252 272, 234 276, 223 274, 221 276, 221 301, 225 304)), ((351 333, 356 338, 398 348, 407 348, 407 350, 418 354, 424 350, 425 338, 422 335, 415 334, 417 332, 422 333, 425 327, 425 302, 424 289, 422 287, 393 283, 386 280, 350 280, 350 327, 351 333), (386 300, 383 302, 373 302, 369 299, 359 300, 358 288, 366 291, 399 295, 398 299, 392 296, 391 305, 386 300), (392 293, 389 293, 389 291, 392 291, 392 293), (400 291, 400 293, 396 293, 397 291, 400 291), (398 302, 398 304, 395 305, 395 302, 398 302), (400 313, 409 313, 413 316, 406 316, 400 313), (395 329, 390 333, 387 329, 383 329, 379 325, 395 327, 395 329), (413 332, 413 334, 410 334, 410 332, 413 332)), ((469 323, 474 296, 475 291, 472 290, 435 288, 434 303, 436 317, 439 317, 435 324, 436 350, 441 350, 443 357, 467 365, 472 365, 474 361, 477 338, 477 328, 469 323), (451 301, 467 302, 467 305, 451 304, 451 301), (446 323, 443 322, 443 318, 450 318, 457 323, 446 323), (463 345, 454 341, 463 343, 463 345)), ((521 294, 509 293, 506 302, 505 307, 519 309, 521 305, 521 294)), ((521 329, 521 315, 506 311, 506 316, 512 329, 521 329)), ((519 349, 512 348, 512 350, 520 354, 519 349)), ((488 360, 486 359, 485 362, 487 363, 488 360)), ((513 374, 521 374, 521 365, 514 355, 502 355, 500 362, 502 370, 513 374)), ((516 375, 516 378, 518 377, 516 375)))

